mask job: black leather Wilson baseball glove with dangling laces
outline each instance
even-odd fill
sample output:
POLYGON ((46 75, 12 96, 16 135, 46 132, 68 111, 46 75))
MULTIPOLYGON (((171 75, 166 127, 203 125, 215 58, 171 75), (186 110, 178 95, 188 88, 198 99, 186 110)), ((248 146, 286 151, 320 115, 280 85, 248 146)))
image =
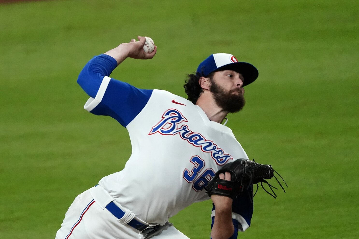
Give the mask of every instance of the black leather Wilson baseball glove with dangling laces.
MULTIPOLYGON (((207 191, 208 196, 217 194, 234 199, 238 195, 241 195, 244 189, 250 188, 253 184, 261 183, 262 188, 267 193, 269 193, 272 197, 276 198, 277 195, 273 191, 273 188, 275 189, 278 188, 270 185, 266 181, 266 179, 271 179, 272 177, 274 177, 284 192, 285 190, 281 185, 281 183, 278 181, 278 179, 274 176, 274 172, 276 171, 269 164, 259 164, 249 159, 240 158, 233 162, 227 163, 222 169, 218 170, 216 175, 205 187, 205 190, 207 191), (231 181, 223 180, 219 178, 219 174, 225 172, 230 173, 231 181), (263 183, 267 183, 267 185, 269 185, 269 188, 271 189, 273 194, 268 192, 264 188, 263 183)), ((282 177, 281 179, 283 180, 282 177)), ((283 182, 285 183, 284 180, 283 182)), ((285 185, 287 186, 286 183, 285 185)), ((253 199, 254 196, 253 193, 251 193, 250 196, 253 199)))

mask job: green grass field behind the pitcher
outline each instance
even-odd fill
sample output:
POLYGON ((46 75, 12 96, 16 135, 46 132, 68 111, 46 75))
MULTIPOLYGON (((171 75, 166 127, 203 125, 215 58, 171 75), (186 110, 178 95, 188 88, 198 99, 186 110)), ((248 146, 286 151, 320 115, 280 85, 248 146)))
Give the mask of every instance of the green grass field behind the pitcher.
MULTIPOLYGON (((127 131, 83 110, 76 79, 92 56, 138 34, 157 55, 111 75, 137 87, 184 97, 185 73, 216 52, 260 72, 227 125, 289 188, 276 200, 259 190, 238 238, 358 238, 358 9, 344 0, 0 5, 0 238, 55 238, 74 197, 123 168, 127 131)), ((194 204, 171 221, 209 238, 210 209, 194 204)))

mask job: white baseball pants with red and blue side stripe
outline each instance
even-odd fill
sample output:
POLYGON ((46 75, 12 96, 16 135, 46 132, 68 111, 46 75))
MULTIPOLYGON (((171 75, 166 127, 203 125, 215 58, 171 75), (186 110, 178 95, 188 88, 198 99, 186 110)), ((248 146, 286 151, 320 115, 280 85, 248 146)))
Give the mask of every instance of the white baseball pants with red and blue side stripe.
MULTIPOLYGON (((142 220, 136 218, 141 223, 142 220)), ((90 189, 77 196, 65 214, 56 239, 189 239, 171 223, 143 235, 139 230, 122 224, 107 209, 94 201, 90 189)))

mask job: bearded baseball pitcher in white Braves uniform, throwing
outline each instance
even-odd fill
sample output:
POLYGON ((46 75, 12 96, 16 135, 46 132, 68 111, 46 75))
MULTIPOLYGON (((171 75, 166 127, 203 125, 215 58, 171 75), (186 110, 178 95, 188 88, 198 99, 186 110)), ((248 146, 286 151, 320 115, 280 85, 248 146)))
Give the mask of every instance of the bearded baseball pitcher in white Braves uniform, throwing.
POLYGON ((89 95, 84 109, 111 116, 125 127, 132 154, 125 168, 75 198, 56 239, 188 239, 169 219, 208 199, 214 205, 209 237, 237 238, 251 224, 252 182, 237 187, 237 169, 217 172, 236 159, 247 162, 240 164, 241 173, 249 172, 252 161, 221 123, 228 113, 242 109, 243 87, 256 80, 258 71, 231 54, 217 53, 188 75, 188 100, 164 90, 139 89, 127 83, 131 79, 109 77, 127 57, 155 56, 157 47, 146 53, 146 39, 138 39, 93 57, 78 77, 89 95))

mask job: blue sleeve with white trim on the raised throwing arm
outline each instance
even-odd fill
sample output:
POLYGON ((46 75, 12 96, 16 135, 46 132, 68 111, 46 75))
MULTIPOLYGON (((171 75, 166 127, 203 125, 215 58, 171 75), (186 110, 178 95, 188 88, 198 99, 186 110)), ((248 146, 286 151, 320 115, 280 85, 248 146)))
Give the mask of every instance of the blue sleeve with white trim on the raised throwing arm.
POLYGON ((90 96, 86 110, 95 115, 109 115, 126 127, 145 107, 152 90, 138 89, 108 77, 116 66, 111 56, 95 56, 80 72, 77 82, 90 96))

